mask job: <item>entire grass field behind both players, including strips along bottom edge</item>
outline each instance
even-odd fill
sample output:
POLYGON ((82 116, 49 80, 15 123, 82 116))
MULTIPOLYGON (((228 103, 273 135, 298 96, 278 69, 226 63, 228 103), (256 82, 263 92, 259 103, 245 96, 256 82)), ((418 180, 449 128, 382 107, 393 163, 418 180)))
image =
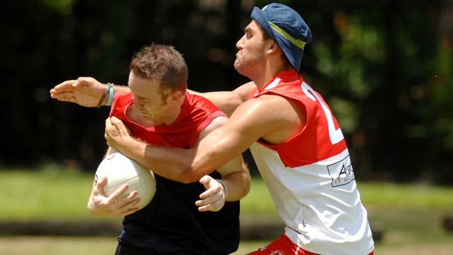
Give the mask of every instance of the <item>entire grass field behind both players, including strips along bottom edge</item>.
MULTIPOLYGON (((0 220, 93 219, 86 212, 93 176, 77 171, 0 171, 0 220)), ((377 254, 453 254, 453 233, 441 225, 453 216, 453 187, 362 183, 358 187, 372 225, 383 230, 377 254)), ((261 180, 252 182, 241 215, 275 220, 277 213, 261 180)), ((113 219, 121 220, 121 219, 113 219)), ((243 241, 245 254, 267 240, 243 241)), ((112 254, 114 237, 0 236, 0 254, 112 254)))

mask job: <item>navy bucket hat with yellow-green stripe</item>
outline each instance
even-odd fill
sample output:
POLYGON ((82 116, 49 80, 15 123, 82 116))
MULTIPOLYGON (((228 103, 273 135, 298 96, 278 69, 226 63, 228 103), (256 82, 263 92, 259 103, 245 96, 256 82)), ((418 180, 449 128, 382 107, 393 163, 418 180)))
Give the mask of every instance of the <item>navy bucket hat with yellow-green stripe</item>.
POLYGON ((277 42, 295 70, 299 70, 305 44, 312 41, 312 32, 295 10, 282 3, 270 3, 262 9, 254 7, 253 20, 277 42))

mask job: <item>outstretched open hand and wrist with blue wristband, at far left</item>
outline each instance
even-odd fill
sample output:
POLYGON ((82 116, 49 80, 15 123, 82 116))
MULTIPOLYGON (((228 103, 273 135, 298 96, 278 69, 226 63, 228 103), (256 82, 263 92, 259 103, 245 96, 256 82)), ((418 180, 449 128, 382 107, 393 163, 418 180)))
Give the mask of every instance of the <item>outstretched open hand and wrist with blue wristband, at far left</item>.
MULTIPOLYGON (((102 95, 107 89, 106 84, 98 82, 92 77, 79 77, 62 82, 52 88, 50 97, 63 102, 75 102, 84 107, 96 107, 105 105, 107 97, 102 95), (102 99, 102 102, 100 102, 102 99)), ((128 93, 128 86, 114 86, 114 93, 128 93)))

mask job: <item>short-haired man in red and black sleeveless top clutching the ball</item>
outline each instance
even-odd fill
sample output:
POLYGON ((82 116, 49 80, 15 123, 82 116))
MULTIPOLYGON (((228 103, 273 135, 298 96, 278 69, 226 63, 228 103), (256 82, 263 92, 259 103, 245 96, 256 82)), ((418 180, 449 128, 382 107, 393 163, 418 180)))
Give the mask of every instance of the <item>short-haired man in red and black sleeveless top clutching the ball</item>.
MULTIPOLYGON (((78 82, 86 80, 94 81, 80 78, 78 82)), ((63 82, 62 86, 74 82, 63 82)), ((135 54, 128 85, 131 92, 115 95, 107 87, 100 104, 112 104, 110 117, 123 121, 130 135, 148 144, 194 148, 227 122, 212 102, 187 93, 187 66, 173 47, 151 45, 135 54)), ((84 100, 89 101, 89 96, 84 100)), ((210 255, 236 251, 238 200, 249 190, 249 174, 242 157, 203 175, 169 179, 155 173, 155 178, 153 200, 141 210, 135 207, 137 191, 123 194, 127 185, 111 196, 102 192, 105 178, 93 186, 90 212, 104 217, 125 216, 116 254, 210 255)))

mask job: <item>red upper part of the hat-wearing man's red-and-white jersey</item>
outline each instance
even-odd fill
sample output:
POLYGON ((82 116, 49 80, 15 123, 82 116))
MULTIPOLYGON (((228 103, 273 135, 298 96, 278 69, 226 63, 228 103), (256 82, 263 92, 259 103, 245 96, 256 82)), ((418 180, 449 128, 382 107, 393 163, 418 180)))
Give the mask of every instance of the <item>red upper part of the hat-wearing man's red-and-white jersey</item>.
MULTIPOLYGON (((300 167, 313 164, 335 156, 346 149, 346 141, 344 139, 332 144, 329 136, 328 118, 321 103, 326 107, 327 111, 330 111, 330 108, 320 94, 311 89, 308 92, 303 91, 302 82, 304 81, 298 72, 294 70, 282 71, 263 86, 260 91, 254 91, 254 95, 250 95, 250 98, 258 98, 264 94, 280 95, 297 102, 301 109, 306 112, 307 122, 299 134, 295 134, 282 144, 277 145, 259 141, 263 146, 277 151, 285 167, 300 167), (307 95, 307 93, 310 94, 307 95), (316 98, 316 100, 313 100, 313 98, 316 98)), ((339 129, 337 120, 332 116, 332 112, 328 113, 335 125, 335 130, 339 129)))

